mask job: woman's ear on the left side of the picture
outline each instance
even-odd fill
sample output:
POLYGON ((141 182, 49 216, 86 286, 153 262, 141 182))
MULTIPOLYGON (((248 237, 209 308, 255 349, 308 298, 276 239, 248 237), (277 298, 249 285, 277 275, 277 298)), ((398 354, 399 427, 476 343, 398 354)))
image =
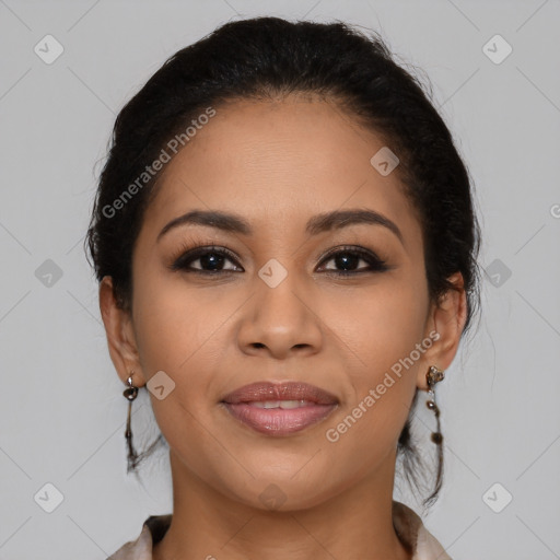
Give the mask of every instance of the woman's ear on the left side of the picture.
POLYGON ((135 331, 130 314, 117 306, 110 276, 103 277, 100 283, 100 310, 107 335, 110 359, 122 383, 127 383, 130 372, 137 387, 145 384, 140 366, 135 331))

